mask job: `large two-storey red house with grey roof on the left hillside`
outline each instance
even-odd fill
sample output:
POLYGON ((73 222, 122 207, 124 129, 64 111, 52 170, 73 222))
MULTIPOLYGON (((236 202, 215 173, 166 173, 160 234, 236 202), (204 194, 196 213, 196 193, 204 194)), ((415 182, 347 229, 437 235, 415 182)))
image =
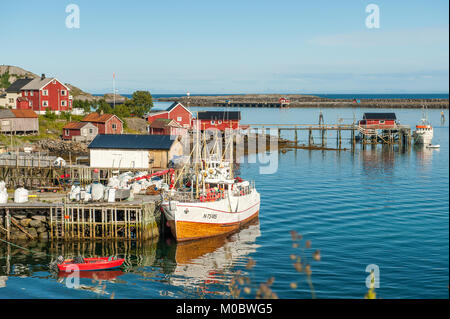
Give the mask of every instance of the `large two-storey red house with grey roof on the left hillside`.
MULTIPOLYGON (((47 109, 55 113, 72 109, 70 89, 56 78, 46 78, 45 74, 28 82, 20 91, 22 98, 28 100, 28 108, 39 114, 47 109)), ((24 103, 21 104, 21 107, 24 106, 24 103)))

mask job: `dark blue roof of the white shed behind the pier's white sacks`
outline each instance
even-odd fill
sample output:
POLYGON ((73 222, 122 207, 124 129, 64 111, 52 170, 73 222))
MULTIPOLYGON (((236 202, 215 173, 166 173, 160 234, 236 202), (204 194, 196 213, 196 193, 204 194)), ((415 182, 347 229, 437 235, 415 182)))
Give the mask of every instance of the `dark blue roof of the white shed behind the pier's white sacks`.
POLYGON ((170 135, 102 134, 88 148, 169 150, 175 140, 170 135))

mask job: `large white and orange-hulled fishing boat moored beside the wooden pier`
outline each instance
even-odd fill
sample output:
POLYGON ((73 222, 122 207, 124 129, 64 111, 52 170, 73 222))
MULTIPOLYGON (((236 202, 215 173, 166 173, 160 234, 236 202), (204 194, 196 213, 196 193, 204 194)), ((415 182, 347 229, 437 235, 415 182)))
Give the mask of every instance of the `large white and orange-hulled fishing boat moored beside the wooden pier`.
MULTIPOLYGON (((232 159, 232 139, 227 147, 232 159)), ((196 161, 202 167, 191 168, 183 187, 162 194, 161 209, 178 242, 229 234, 258 217, 260 194, 254 182, 234 178, 233 162, 214 149, 196 161)))

